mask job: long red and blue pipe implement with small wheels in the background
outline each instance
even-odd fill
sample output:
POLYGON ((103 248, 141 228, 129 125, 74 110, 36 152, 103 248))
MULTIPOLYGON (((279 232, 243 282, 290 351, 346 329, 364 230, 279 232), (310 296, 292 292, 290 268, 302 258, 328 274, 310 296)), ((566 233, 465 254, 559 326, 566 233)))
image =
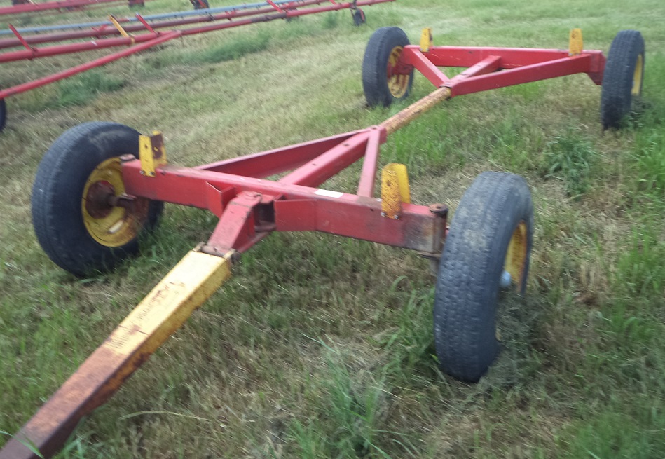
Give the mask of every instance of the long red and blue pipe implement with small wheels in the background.
MULTIPOLYGON (((203 1, 203 0, 196 0, 203 1)), ((62 54, 83 53, 84 51, 105 48, 125 47, 121 51, 79 64, 55 74, 21 83, 11 88, 0 90, 0 130, 6 123, 6 97, 25 93, 64 78, 69 78, 83 71, 100 67, 109 62, 153 48, 167 41, 188 35, 203 34, 222 29, 231 29, 243 25, 268 22, 277 19, 298 18, 303 15, 349 9, 356 25, 365 22, 365 15, 360 6, 371 6, 395 0, 353 0, 336 2, 334 0, 268 0, 256 4, 205 8, 196 11, 181 11, 150 15, 145 18, 137 14, 135 18, 109 21, 86 22, 74 25, 56 25, 17 29, 9 25, 8 30, 0 31, 0 49, 22 48, 0 53, 0 64, 20 60, 34 60, 62 54), (198 27, 177 28, 184 25, 212 22, 198 27), (169 29, 160 32, 159 29, 169 29), (74 29, 74 30, 70 30, 74 29), (137 33, 135 33, 137 32, 137 33), (78 40, 74 41, 73 40, 78 40), (62 43, 37 47, 42 43, 62 43)))

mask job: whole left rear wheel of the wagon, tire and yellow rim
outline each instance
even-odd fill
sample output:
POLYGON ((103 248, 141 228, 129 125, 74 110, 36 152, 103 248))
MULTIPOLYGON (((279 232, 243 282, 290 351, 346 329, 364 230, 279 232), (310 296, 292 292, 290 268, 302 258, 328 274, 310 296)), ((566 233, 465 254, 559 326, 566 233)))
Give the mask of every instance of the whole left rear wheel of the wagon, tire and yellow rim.
POLYGON ((362 60, 362 88, 369 107, 388 107, 409 96, 413 67, 397 67, 407 45, 409 39, 399 27, 381 27, 372 34, 362 60))

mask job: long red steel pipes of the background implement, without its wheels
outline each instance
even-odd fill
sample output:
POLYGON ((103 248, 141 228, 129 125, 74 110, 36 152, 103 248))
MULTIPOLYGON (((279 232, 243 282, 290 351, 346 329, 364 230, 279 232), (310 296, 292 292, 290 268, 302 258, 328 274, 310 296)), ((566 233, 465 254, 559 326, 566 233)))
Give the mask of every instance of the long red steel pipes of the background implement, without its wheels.
MULTIPOLYGON (((139 51, 157 46, 165 41, 170 41, 181 36, 203 34, 205 32, 214 32, 221 29, 230 29, 232 27, 240 27, 243 25, 256 24, 259 22, 268 22, 277 19, 297 18, 303 15, 310 15, 315 13, 323 13, 326 11, 337 11, 342 9, 353 9, 358 6, 371 6, 374 4, 381 4, 388 1, 395 0, 358 0, 358 1, 345 1, 336 2, 334 0, 294 0, 288 4, 280 4, 271 6, 270 8, 259 8, 250 11, 230 11, 226 13, 219 13, 210 15, 202 13, 200 16, 194 18, 185 18, 180 20, 168 20, 149 24, 140 15, 137 15, 140 24, 131 24, 124 28, 121 32, 115 27, 100 27, 95 29, 88 29, 83 31, 64 32, 60 34, 44 34, 34 36, 22 36, 14 27, 9 26, 14 34, 14 39, 1 39, 0 48, 11 48, 15 46, 22 46, 23 50, 8 51, 0 54, 0 63, 2 62, 15 62, 18 60, 33 60, 39 57, 50 57, 61 54, 81 53, 83 51, 100 50, 104 48, 116 48, 120 46, 127 46, 128 48, 110 55, 101 57, 85 64, 71 67, 64 71, 39 78, 34 81, 22 83, 0 90, 0 100, 4 100, 11 95, 25 93, 26 91, 39 88, 55 81, 60 81, 64 78, 69 78, 83 71, 90 70, 95 67, 100 67, 109 62, 119 60, 128 55, 139 53, 139 51), (324 4, 324 5, 322 5, 324 4), (304 7, 310 8, 304 8, 304 7), (238 19, 242 18, 242 19, 238 19), (188 29, 175 29, 168 32, 158 32, 156 29, 166 27, 177 27, 180 25, 193 24, 197 22, 219 22, 225 20, 226 22, 211 25, 204 25, 199 27, 191 27, 188 29), (128 32, 146 31, 141 34, 129 35, 128 32), (124 34, 123 34, 124 32, 124 34), (123 35, 118 38, 100 38, 111 35, 123 35), (126 36, 125 36, 126 35, 126 36), (46 46, 37 48, 37 43, 53 43, 57 41, 70 41, 72 39, 85 39, 85 38, 99 38, 94 40, 86 40, 78 43, 67 43, 62 45, 46 46)), ((125 20, 126 21, 126 20, 125 20)), ((118 21, 122 23, 123 21, 118 21)))

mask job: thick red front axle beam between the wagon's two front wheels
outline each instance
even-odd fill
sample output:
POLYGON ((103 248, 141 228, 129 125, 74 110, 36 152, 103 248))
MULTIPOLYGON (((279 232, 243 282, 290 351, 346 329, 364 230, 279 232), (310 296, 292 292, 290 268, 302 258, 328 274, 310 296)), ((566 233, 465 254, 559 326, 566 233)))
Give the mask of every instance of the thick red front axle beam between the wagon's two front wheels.
MULTIPOLYGON (((220 193, 221 199, 235 198, 243 191, 283 196, 274 203, 276 231, 321 231, 427 253, 440 249, 440 241, 432 235, 437 234, 441 219, 422 205, 404 203, 399 219, 387 219, 381 217, 381 200, 374 198, 171 165, 160 167, 157 177, 146 179, 139 160, 123 163, 123 183, 132 196, 201 209, 208 209, 211 203, 209 186, 234 190, 228 196, 220 193)), ((223 207, 230 202, 226 200, 223 207)))

